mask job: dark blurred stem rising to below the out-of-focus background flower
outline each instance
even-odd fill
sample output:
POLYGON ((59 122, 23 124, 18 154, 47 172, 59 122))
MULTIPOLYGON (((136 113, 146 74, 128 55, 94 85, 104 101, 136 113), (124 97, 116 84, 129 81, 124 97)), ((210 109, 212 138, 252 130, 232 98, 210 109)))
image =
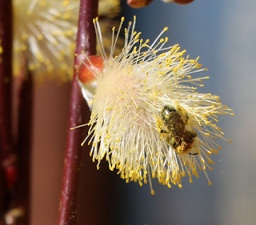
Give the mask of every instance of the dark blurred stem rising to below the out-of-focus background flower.
POLYGON ((18 184, 12 191, 8 224, 30 224, 30 157, 32 144, 33 93, 32 74, 27 69, 20 77, 18 90, 18 184), (15 211, 15 213, 14 213, 15 211))

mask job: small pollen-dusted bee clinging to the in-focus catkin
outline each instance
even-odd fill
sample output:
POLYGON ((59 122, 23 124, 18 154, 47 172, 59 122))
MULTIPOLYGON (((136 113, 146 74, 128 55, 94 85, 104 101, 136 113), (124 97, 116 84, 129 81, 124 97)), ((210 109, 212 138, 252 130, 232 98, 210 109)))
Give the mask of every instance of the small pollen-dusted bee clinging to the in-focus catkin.
MULTIPOLYGON (((165 105, 162 108, 161 118, 158 116, 155 116, 155 118, 162 140, 172 146, 178 154, 190 152, 193 148, 194 138, 198 136, 198 133, 186 129, 189 116, 187 116, 185 109, 179 105, 177 105, 177 109, 165 105)), ((198 153, 189 154, 197 155, 198 153)))

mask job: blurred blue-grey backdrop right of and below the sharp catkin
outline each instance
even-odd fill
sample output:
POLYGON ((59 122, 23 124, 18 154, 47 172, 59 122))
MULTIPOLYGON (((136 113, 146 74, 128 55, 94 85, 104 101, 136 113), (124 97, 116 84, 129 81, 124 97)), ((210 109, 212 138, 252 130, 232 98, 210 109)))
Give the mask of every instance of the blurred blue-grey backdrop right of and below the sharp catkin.
MULTIPOLYGON (((222 150, 213 156, 208 171, 212 186, 203 173, 193 184, 182 180, 182 189, 171 189, 154 180, 156 194, 149 185, 118 185, 114 224, 255 224, 255 69, 256 2, 254 0, 195 0, 179 6, 155 0, 150 6, 134 10, 123 1, 126 23, 137 16, 137 31, 151 41, 166 26, 169 44, 178 43, 191 58, 209 70, 205 87, 198 92, 221 97, 235 116, 220 116, 219 126, 232 144, 218 140, 222 150)), ((115 176, 115 175, 114 175, 115 176)))

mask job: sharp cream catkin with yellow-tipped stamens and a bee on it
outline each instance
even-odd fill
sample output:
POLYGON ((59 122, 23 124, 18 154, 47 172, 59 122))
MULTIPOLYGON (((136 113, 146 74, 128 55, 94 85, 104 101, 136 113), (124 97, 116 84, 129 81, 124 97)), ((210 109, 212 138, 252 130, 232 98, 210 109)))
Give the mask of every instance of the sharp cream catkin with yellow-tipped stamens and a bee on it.
MULTIPOLYGON (((221 148, 215 140, 224 139, 216 124, 218 114, 233 115, 232 110, 219 97, 196 91, 209 77, 194 73, 206 69, 201 69, 198 58, 183 57, 186 51, 178 45, 166 47, 168 38, 162 34, 167 28, 150 44, 134 30, 134 17, 125 30, 122 53, 114 56, 123 21, 117 34, 113 28, 107 57, 98 18, 94 19, 103 68, 98 72, 85 63, 94 76, 90 95, 88 84, 79 81, 92 109, 82 144, 86 140, 91 144, 90 156, 98 161, 97 168, 105 157, 110 170, 117 169, 126 182, 142 185, 156 177, 169 188, 171 184, 181 188, 182 176, 192 182, 202 170, 211 184, 206 174, 214 164, 210 155, 221 148)), ((150 187, 154 194, 151 181, 150 187)))

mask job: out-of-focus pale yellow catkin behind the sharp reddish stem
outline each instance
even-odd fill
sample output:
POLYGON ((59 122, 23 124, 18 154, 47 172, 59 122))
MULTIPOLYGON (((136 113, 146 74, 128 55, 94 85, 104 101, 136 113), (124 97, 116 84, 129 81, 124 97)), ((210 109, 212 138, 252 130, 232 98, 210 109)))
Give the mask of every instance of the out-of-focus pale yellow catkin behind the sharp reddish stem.
MULTIPOLYGON (((37 80, 70 81, 78 30, 78 0, 14 0, 14 74, 25 61, 37 80)), ((118 0, 100 0, 106 27, 118 14, 118 0), (106 15, 107 14, 107 15, 106 15), (108 22, 106 22, 108 21, 108 22)), ((103 31, 103 35, 106 34, 103 31)))

